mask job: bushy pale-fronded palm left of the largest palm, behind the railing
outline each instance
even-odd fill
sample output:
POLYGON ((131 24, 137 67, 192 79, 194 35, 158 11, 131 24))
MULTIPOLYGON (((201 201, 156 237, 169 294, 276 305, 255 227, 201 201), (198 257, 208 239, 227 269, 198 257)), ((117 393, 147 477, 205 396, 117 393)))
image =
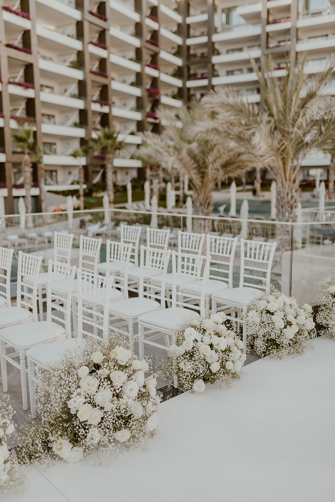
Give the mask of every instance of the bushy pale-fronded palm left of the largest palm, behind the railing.
POLYGON ((134 156, 187 174, 193 189, 194 214, 209 216, 218 177, 237 175, 249 167, 244 153, 227 141, 211 141, 200 135, 194 138, 193 128, 198 122, 212 121, 212 113, 199 101, 193 101, 189 108, 183 106, 178 115, 163 107, 156 113, 164 124, 164 133, 143 133, 144 144, 134 156))

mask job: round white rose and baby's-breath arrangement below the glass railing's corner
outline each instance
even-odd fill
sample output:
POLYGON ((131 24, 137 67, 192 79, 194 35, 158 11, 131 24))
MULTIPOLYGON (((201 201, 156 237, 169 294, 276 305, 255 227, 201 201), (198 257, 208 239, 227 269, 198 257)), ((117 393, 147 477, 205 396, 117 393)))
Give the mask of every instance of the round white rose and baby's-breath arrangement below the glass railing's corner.
POLYGON ((248 349, 265 357, 282 358, 301 355, 310 347, 308 340, 316 336, 313 310, 299 307, 295 298, 272 288, 269 295, 258 297, 247 314, 248 349))

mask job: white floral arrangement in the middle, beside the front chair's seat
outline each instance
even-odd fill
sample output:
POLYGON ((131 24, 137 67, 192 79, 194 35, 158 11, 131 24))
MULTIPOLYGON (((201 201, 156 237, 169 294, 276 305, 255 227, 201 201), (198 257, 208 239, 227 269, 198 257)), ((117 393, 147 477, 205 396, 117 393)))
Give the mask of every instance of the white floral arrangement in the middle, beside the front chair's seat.
POLYGON ((171 382, 176 375, 178 384, 192 393, 203 392, 206 383, 223 388, 239 379, 246 354, 242 340, 225 326, 225 318, 218 312, 179 329, 162 374, 171 382))

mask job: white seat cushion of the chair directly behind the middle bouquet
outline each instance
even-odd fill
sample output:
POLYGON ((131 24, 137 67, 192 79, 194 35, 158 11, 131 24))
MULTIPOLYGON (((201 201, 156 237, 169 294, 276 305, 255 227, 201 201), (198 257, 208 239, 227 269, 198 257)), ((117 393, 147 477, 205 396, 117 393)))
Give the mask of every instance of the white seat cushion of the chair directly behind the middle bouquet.
POLYGON ((179 326, 192 322, 195 318, 199 318, 197 312, 192 310, 182 309, 179 307, 171 307, 156 312, 141 315, 138 318, 139 322, 156 326, 158 329, 166 331, 174 331, 179 326))

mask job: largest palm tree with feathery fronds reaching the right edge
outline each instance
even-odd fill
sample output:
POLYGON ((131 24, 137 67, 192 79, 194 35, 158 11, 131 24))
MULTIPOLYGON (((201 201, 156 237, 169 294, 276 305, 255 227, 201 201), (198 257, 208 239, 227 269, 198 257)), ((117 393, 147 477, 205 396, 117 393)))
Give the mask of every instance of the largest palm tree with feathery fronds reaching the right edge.
POLYGON ((212 141, 230 138, 272 173, 277 184, 277 217, 281 221, 294 220, 297 175, 303 159, 312 149, 332 146, 335 137, 334 100, 324 94, 335 60, 312 82, 307 81, 304 61, 296 64, 293 47, 286 76, 279 79, 271 56, 261 58, 261 70, 252 60, 262 89, 262 106, 246 102, 237 90, 222 87, 203 98, 204 106, 215 111, 217 120, 211 128, 206 123, 197 129, 198 134, 212 141))

